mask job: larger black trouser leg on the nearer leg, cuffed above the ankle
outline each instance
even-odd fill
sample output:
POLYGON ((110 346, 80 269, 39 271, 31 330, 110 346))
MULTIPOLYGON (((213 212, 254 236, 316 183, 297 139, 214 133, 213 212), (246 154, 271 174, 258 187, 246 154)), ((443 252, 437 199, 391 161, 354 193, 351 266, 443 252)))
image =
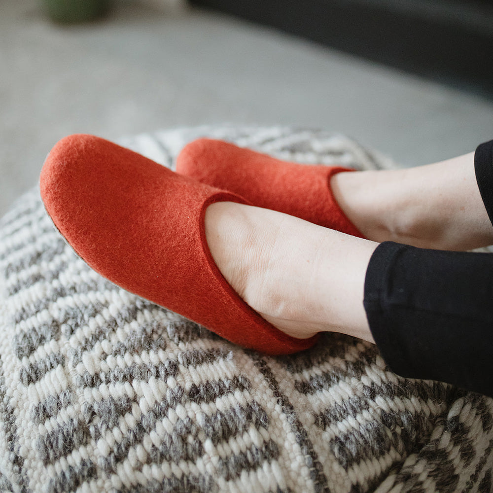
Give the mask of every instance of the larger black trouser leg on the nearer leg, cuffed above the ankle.
POLYGON ((388 366, 493 397, 493 255, 385 242, 364 307, 388 366))

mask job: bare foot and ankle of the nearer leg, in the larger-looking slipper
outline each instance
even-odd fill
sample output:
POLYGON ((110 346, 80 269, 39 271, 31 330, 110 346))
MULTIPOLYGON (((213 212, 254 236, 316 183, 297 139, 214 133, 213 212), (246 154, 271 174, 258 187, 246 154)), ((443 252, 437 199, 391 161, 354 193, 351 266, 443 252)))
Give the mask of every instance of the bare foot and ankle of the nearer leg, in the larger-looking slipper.
POLYGON ((376 243, 232 202, 210 205, 205 226, 225 279, 282 332, 303 339, 335 331, 373 342, 363 289, 376 243))

